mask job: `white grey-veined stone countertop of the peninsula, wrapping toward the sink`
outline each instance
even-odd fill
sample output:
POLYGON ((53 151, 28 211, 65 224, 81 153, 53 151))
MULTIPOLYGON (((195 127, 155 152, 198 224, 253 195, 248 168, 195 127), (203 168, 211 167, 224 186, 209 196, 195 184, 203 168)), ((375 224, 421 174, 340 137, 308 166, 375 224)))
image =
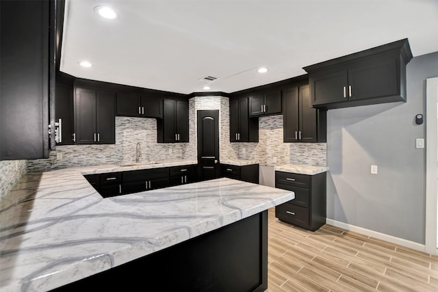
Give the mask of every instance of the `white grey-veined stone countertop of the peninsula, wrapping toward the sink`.
POLYGON ((294 199, 229 178, 102 198, 82 174, 104 170, 120 167, 29 173, 0 200, 1 291, 54 289, 294 199))

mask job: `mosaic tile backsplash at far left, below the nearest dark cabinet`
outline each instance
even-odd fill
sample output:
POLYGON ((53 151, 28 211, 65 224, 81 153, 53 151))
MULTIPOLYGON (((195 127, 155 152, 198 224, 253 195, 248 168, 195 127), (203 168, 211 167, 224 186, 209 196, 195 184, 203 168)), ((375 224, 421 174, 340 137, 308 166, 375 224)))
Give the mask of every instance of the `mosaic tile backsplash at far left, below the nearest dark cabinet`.
POLYGON ((16 185, 26 173, 25 160, 0 161, 0 200, 16 185))

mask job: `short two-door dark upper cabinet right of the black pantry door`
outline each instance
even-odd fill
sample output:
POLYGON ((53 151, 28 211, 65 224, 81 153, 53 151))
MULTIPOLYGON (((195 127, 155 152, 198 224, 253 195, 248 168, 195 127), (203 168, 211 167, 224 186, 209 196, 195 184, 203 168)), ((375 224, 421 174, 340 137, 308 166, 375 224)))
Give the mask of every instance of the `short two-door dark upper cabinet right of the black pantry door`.
POLYGON ((249 96, 249 116, 270 116, 273 114, 281 114, 281 90, 249 96))

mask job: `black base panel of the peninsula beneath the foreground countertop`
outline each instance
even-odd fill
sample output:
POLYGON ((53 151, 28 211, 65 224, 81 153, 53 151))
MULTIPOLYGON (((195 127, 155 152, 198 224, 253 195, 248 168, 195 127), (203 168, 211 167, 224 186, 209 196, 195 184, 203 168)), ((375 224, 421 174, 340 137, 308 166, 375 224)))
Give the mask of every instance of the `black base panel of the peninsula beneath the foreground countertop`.
POLYGON ((266 291, 268 211, 55 291, 89 291, 90 287, 99 291, 266 291))

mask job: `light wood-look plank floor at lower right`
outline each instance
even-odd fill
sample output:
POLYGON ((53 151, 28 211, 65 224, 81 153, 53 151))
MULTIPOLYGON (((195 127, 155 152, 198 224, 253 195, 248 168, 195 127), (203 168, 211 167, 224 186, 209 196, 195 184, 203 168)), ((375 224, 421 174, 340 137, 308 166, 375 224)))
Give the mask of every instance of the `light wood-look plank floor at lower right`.
POLYGON ((438 291, 438 256, 324 225, 315 233, 268 212, 268 291, 438 291))

